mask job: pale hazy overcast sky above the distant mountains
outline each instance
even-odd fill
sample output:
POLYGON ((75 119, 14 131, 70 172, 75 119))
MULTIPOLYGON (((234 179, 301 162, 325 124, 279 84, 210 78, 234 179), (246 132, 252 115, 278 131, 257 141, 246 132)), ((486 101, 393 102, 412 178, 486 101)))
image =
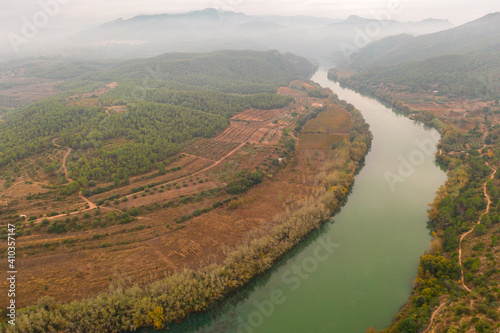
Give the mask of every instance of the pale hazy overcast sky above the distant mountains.
POLYGON ((312 15, 345 19, 356 14, 370 18, 395 2, 399 3, 401 11, 392 15, 392 19, 399 21, 432 17, 449 19, 458 25, 500 11, 498 0, 2 0, 0 47, 7 42, 9 32, 20 34, 25 22, 33 22, 42 11, 48 12, 50 17, 45 24, 43 13, 38 16, 44 23, 41 34, 54 30, 72 33, 138 14, 180 13, 207 7, 255 15, 312 15))

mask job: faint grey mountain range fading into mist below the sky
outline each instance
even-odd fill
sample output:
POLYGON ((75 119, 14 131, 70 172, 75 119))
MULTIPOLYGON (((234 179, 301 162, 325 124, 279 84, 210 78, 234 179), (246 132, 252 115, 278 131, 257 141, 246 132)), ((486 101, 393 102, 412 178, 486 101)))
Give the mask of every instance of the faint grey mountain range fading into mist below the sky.
MULTIPOLYGON (((369 42, 401 33, 421 35, 452 28, 446 20, 377 21, 351 16, 340 21, 310 16, 253 16, 207 8, 185 14, 138 15, 82 31, 54 44, 95 57, 147 57, 165 52, 277 49, 325 63, 343 59, 341 45, 354 43, 373 24, 369 42)), ((60 53, 60 49, 58 50, 60 53)))

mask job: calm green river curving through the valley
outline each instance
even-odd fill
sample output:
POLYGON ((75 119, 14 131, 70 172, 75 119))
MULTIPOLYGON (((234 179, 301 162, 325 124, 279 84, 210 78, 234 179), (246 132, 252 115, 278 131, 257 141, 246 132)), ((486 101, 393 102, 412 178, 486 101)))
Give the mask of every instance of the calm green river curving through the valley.
POLYGON ((446 174, 439 134, 375 99, 312 77, 358 108, 372 149, 346 205, 264 276, 168 332, 357 333, 386 327, 410 295, 429 247, 427 205, 446 174))

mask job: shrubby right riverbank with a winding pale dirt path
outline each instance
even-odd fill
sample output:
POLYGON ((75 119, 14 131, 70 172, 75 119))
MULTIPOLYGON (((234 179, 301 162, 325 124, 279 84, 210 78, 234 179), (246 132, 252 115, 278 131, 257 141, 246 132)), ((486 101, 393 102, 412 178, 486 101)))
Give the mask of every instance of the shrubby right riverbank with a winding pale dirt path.
MULTIPOLYGON (((329 77, 338 79, 334 72, 329 77)), ((407 103, 394 97, 388 87, 364 87, 352 79, 339 80, 442 134, 436 157, 447 167, 448 179, 430 205, 429 220, 434 230, 431 251, 420 259, 412 295, 384 332, 489 332, 498 327, 494 293, 499 280, 495 264, 500 258, 494 249, 500 218, 498 206, 490 207, 498 200, 499 186, 495 177, 498 143, 494 140, 498 128, 493 126, 498 124, 493 113, 496 102, 456 98, 454 105, 467 106, 467 110, 456 112, 456 107, 443 105, 436 110, 421 110, 419 106, 430 105, 422 98, 406 96, 414 100, 407 103)))

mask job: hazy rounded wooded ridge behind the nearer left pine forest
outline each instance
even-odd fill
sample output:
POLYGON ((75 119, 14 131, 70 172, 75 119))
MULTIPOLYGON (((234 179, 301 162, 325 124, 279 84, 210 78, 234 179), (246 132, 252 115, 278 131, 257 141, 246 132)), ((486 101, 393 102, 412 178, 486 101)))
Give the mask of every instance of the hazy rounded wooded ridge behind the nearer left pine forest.
POLYGON ((277 87, 295 78, 309 77, 315 68, 302 57, 278 51, 171 53, 126 61, 112 69, 83 75, 74 84, 126 81, 174 90, 252 94, 276 92, 277 87))

